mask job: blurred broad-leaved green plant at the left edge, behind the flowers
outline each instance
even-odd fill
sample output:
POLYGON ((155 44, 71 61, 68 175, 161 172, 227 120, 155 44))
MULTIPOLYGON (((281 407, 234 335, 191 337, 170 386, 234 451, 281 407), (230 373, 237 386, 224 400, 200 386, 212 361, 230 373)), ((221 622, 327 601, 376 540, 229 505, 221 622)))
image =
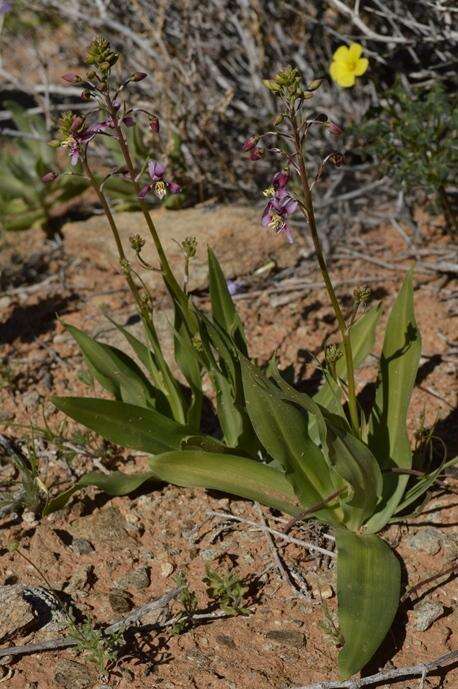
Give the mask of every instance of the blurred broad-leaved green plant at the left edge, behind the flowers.
POLYGON ((59 206, 79 196, 87 181, 75 175, 55 179, 52 175, 43 181, 50 168, 58 169, 44 118, 10 101, 5 106, 17 136, 13 141, 4 139, 0 149, 0 227, 5 231, 40 227, 52 237, 60 229, 59 206))

